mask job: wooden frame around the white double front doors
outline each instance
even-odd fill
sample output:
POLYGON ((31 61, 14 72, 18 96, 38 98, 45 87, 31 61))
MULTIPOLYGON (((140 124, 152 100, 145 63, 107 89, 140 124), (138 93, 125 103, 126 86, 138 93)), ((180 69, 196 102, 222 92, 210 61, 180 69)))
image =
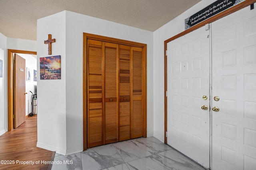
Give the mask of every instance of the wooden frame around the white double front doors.
MULTIPOLYGON (((236 6, 233 6, 231 8, 228 8, 227 10, 220 12, 219 14, 202 21, 201 23, 198 23, 197 25, 194 25, 193 27, 190 27, 189 29, 186 29, 185 31, 175 35, 174 37, 171 37, 164 41, 164 134, 167 133, 167 43, 170 41, 173 41, 174 39, 177 39, 179 37, 182 37, 183 35, 186 35, 208 23, 212 23, 216 20, 219 20, 220 18, 223 18, 225 16, 228 16, 229 14, 232 14, 238 10, 241 10, 242 8, 245 8, 251 4, 256 3, 256 0, 245 0, 244 2, 241 2, 240 4, 237 4, 236 6)), ((164 135, 164 143, 167 144, 167 137, 164 135)))

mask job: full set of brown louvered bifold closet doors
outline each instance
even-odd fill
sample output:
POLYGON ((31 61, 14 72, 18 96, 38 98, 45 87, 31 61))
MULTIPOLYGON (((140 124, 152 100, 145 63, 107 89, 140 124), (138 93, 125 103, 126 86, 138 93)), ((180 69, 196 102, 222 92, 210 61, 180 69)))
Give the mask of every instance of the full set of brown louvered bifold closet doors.
POLYGON ((88 39, 87 147, 143 136, 143 48, 88 39))

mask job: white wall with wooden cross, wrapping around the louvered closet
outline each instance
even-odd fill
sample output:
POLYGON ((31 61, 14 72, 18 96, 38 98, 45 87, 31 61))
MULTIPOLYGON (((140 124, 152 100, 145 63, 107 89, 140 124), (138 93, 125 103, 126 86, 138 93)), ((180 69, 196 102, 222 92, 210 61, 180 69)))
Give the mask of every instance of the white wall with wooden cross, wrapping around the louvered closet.
POLYGON ((52 55, 61 55, 62 77, 61 80, 38 80, 38 147, 61 154, 83 149, 84 32, 147 44, 147 135, 153 135, 152 32, 69 11, 42 18, 37 27, 38 57, 48 56, 48 46, 42 42, 52 34, 56 39, 56 43, 52 43, 52 55), (49 101, 49 98, 56 100, 49 101))

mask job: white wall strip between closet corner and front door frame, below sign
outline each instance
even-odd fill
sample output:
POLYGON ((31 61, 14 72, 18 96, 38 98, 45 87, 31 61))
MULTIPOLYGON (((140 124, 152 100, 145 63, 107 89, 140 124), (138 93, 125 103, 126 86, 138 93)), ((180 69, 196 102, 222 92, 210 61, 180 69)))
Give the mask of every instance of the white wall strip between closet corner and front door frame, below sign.
POLYGON ((184 31, 184 20, 216 0, 202 0, 153 33, 154 137, 164 141, 164 41, 184 31))

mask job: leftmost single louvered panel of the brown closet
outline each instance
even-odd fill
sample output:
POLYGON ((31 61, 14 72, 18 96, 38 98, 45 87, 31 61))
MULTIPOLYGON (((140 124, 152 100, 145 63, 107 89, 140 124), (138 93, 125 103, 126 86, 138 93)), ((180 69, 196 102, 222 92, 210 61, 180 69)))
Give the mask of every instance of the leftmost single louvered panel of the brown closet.
POLYGON ((102 42, 88 40, 88 148, 103 144, 102 42))

